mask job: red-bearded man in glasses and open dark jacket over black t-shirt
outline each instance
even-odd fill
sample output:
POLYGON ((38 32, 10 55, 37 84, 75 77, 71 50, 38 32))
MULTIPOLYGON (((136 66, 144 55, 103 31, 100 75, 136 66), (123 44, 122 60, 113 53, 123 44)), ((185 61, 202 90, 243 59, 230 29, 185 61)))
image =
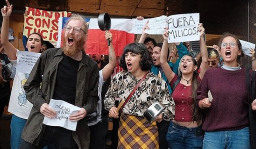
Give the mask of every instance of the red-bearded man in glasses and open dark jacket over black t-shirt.
POLYGON ((22 133, 20 149, 46 145, 59 149, 89 147, 90 131, 85 117, 95 111, 99 100, 99 69, 84 52, 87 32, 84 19, 73 14, 64 25, 63 46, 45 51, 35 64, 24 86, 27 99, 34 106, 22 133), (68 117, 68 121, 78 121, 75 131, 43 124, 44 117, 54 119, 57 115, 49 106, 51 99, 81 108, 68 117))

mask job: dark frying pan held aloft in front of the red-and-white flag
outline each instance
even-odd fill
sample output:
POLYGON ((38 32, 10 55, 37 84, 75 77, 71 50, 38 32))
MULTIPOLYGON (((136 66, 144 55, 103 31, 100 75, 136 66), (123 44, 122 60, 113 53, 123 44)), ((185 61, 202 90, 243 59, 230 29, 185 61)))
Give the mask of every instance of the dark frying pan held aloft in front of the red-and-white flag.
MULTIPOLYGON (((100 30, 109 30, 111 27, 111 19, 108 13, 99 14, 98 25, 100 30)), ((110 39, 108 39, 108 46, 110 45, 110 39)))

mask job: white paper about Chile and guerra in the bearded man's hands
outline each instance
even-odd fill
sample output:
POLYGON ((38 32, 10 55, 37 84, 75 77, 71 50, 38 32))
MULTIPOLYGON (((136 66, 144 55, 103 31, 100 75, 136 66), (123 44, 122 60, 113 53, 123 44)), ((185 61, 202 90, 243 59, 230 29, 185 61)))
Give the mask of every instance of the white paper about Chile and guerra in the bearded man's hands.
POLYGON ((81 108, 76 107, 63 100, 55 100, 55 99, 50 100, 49 106, 54 111, 57 112, 57 116, 55 116, 52 119, 44 117, 43 124, 46 124, 49 126, 60 126, 68 130, 75 131, 77 121, 69 121, 68 118, 69 118, 69 115, 78 112, 81 108))

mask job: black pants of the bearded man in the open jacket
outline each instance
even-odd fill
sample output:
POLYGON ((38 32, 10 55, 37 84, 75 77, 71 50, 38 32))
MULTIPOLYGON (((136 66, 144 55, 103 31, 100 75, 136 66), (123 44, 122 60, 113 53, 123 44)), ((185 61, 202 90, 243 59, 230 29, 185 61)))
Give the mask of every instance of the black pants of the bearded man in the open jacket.
POLYGON ((72 131, 58 126, 46 126, 39 146, 22 140, 19 149, 42 149, 46 145, 48 149, 78 149, 72 137, 72 131))

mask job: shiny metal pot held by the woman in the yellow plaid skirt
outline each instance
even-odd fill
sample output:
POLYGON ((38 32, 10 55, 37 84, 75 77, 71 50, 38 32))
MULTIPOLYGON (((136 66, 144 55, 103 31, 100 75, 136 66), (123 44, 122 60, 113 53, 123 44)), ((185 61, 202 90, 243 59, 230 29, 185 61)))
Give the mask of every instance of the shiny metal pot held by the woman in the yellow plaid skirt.
POLYGON ((149 106, 143 116, 151 123, 162 113, 164 109, 165 107, 160 102, 156 101, 149 106))

